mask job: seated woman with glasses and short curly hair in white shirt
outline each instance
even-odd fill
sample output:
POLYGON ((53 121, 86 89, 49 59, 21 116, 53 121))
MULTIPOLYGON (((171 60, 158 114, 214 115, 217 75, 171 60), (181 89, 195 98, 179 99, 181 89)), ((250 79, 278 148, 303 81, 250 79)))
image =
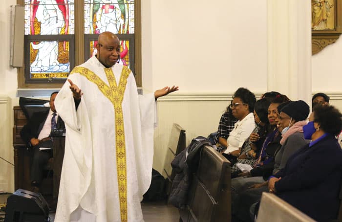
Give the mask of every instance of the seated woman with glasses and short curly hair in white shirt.
POLYGON ((252 113, 255 102, 256 96, 248 89, 239 88, 234 93, 230 108, 238 121, 227 139, 219 137, 218 140, 220 144, 227 147, 223 155, 230 161, 236 160, 237 156, 241 155, 241 147, 244 141, 256 126, 252 113))

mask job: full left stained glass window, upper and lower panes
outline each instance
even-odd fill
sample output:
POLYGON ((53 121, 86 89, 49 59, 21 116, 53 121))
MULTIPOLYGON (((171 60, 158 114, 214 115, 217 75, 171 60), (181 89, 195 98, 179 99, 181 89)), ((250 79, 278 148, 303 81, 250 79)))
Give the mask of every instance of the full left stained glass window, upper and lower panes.
POLYGON ((25 0, 24 7, 25 82, 65 81, 74 66, 74 0, 25 0))

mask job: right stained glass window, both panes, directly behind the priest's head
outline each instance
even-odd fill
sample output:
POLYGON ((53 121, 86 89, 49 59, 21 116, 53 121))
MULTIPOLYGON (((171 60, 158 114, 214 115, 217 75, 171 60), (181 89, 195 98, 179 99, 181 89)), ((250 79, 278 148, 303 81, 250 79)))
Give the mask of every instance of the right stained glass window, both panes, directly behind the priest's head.
POLYGON ((120 62, 134 73, 134 0, 85 0, 85 43, 90 44, 86 60, 96 54, 94 39, 105 31, 118 35, 120 62))

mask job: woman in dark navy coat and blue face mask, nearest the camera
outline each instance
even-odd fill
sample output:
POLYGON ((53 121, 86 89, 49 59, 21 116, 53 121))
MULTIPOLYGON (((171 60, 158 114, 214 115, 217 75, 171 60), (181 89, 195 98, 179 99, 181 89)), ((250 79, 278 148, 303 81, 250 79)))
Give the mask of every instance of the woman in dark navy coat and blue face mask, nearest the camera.
POLYGON ((336 136, 341 130, 340 111, 333 106, 316 107, 314 121, 303 127, 311 142, 269 179, 269 191, 314 220, 336 219, 342 181, 342 150, 336 136))

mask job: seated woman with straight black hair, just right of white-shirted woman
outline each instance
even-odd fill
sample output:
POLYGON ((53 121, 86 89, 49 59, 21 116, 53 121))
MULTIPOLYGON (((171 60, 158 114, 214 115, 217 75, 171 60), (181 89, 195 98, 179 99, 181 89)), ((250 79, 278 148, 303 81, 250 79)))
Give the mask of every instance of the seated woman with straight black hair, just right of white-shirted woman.
POLYGON ((256 127, 254 128, 250 137, 244 142, 241 148, 242 154, 237 157, 237 161, 231 166, 232 177, 236 177, 237 173, 241 172, 236 166, 237 163, 248 165, 253 165, 255 163, 256 155, 253 154, 256 154, 256 152, 261 149, 266 135, 273 131, 275 125, 271 127, 267 119, 267 110, 270 104, 271 102, 267 98, 256 101, 254 105, 254 120, 256 127))

